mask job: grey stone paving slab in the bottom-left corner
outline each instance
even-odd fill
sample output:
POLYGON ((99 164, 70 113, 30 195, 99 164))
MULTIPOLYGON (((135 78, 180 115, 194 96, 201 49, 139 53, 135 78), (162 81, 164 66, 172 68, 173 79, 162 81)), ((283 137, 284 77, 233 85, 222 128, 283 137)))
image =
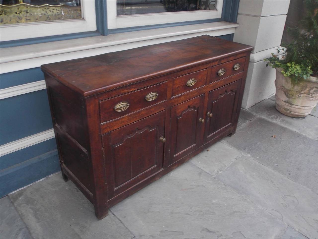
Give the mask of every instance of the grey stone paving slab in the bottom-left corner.
POLYGON ((0 238, 32 238, 9 197, 0 199, 0 238))

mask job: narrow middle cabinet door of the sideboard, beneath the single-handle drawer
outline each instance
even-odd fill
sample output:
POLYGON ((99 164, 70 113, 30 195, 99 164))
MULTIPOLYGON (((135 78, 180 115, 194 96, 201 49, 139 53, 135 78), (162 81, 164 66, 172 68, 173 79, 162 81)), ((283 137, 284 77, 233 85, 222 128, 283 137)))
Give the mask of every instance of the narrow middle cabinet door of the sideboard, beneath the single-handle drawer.
POLYGON ((169 164, 178 161, 202 145, 203 105, 204 95, 201 95, 171 107, 169 164))

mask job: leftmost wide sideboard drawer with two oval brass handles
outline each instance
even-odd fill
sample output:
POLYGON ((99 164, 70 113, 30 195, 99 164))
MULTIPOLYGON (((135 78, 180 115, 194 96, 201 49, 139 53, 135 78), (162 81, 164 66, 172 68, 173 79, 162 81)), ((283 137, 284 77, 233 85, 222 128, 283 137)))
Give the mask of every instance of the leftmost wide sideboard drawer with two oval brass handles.
POLYGON ((157 104, 167 98, 167 82, 100 101, 100 122, 106 122, 157 104))

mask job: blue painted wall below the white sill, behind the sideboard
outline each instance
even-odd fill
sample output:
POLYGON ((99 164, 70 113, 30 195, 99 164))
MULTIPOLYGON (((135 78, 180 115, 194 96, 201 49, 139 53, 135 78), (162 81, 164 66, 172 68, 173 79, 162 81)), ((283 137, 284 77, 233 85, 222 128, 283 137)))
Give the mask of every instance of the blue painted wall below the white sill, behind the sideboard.
MULTIPOLYGON (((232 40, 233 34, 219 36, 232 40)), ((0 88, 44 80, 40 68, 0 75, 0 88)), ((52 128, 46 90, 0 100, 0 145, 52 128)), ((60 170, 55 139, 0 157, 0 197, 60 170)))

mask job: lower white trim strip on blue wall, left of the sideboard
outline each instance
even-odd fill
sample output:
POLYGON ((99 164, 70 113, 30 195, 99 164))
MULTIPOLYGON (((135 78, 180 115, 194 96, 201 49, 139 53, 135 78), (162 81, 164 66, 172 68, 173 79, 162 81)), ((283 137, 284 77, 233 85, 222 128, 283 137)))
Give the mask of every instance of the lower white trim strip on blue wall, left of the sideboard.
POLYGON ((31 136, 25 137, 23 139, 3 144, 0 146, 0 157, 18 151, 20 149, 44 142, 46 140, 53 139, 54 137, 54 130, 49 129, 38 134, 33 134, 31 136))

